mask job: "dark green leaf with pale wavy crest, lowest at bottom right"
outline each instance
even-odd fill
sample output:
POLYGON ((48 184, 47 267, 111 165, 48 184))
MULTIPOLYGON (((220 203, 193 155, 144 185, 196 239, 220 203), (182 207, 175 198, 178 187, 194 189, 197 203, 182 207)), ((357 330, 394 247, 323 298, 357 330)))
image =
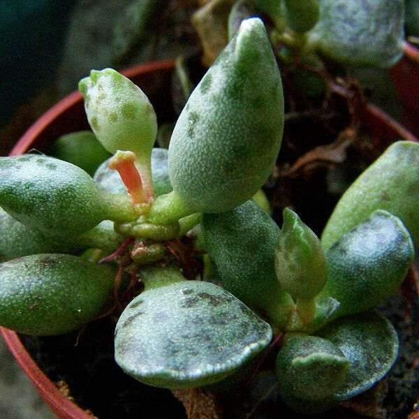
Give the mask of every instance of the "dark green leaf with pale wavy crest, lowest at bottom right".
POLYGON ((327 339, 291 337, 277 355, 279 392, 308 400, 330 398, 344 384, 348 365, 342 351, 327 339))

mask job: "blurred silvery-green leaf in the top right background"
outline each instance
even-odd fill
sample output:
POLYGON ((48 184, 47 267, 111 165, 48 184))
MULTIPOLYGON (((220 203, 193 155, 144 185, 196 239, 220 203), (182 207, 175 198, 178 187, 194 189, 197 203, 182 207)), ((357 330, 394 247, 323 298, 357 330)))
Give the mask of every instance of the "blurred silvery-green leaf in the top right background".
POLYGON ((342 64, 390 67, 402 57, 403 0, 319 0, 311 41, 342 64))

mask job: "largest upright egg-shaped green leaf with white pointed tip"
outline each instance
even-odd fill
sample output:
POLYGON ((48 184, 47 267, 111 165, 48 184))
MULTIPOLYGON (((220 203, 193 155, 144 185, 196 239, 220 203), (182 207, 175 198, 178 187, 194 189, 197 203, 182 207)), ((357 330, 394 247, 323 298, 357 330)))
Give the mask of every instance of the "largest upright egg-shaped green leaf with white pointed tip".
POLYGON ((173 189, 193 212, 223 212, 251 198, 281 145, 284 98, 263 23, 242 25, 191 94, 172 134, 173 189))

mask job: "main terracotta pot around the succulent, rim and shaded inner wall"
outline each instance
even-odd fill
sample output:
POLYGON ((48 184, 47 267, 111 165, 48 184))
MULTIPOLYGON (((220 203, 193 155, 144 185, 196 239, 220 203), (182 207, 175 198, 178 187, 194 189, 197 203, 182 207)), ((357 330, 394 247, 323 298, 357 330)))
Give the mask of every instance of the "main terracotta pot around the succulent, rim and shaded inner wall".
MULTIPOLYGON (((170 121, 174 117, 172 103, 170 102, 170 80, 173 66, 172 61, 163 61, 145 64, 124 72, 128 78, 139 84, 149 96, 156 109, 160 124, 170 121)), ((339 91, 339 89, 336 92, 347 95, 347 92, 339 91)), ((374 135, 380 135, 385 141, 391 142, 399 138, 417 140, 413 134, 406 131, 405 128, 374 105, 365 107, 363 119, 365 125, 373 131, 374 135)), ((38 119, 20 138, 10 155, 23 154, 32 148, 43 150, 59 135, 86 128, 88 128, 88 124, 84 115, 82 96, 80 93, 74 92, 38 119)), ((91 419, 89 414, 68 399, 43 374, 24 348, 17 333, 5 328, 0 328, 0 332, 17 362, 59 418, 91 419)))

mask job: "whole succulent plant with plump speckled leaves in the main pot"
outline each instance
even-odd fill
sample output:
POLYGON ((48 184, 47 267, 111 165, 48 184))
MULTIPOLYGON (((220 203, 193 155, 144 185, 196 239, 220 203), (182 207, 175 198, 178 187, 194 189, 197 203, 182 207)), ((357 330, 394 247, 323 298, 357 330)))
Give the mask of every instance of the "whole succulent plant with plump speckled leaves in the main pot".
MULTIPOLYGON (((317 15, 332 14, 330 2, 310 2, 308 26, 295 17, 300 3, 284 2, 286 22, 297 33, 319 31, 317 15)), ((274 166, 284 124, 281 77, 260 19, 242 22, 193 91, 168 151, 153 148, 152 105, 122 75, 92 71, 80 90, 98 142, 113 154, 93 178, 50 156, 0 158, 1 325, 32 335, 77 330, 110 291, 117 298, 119 287, 142 281, 119 316, 115 359, 143 383, 226 383, 273 350, 282 399, 313 413, 387 374, 397 334, 373 309, 413 260, 419 213, 409 191, 419 183, 419 145, 397 142, 368 168, 320 240, 290 208, 280 229, 251 200, 274 166), (191 230, 212 281, 185 260, 180 240, 191 230), (86 249, 111 254, 96 263, 86 249), (268 348, 272 339, 279 349, 268 348)))

